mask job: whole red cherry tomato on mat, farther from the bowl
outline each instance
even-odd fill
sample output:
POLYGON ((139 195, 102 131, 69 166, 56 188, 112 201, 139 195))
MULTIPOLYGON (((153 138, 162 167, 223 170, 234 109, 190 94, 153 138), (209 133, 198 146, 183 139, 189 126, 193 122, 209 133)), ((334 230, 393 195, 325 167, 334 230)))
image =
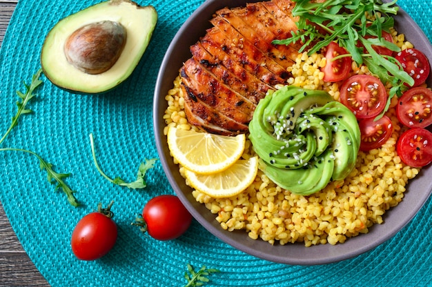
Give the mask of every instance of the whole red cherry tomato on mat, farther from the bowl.
POLYGON ((117 240, 117 225, 111 219, 110 208, 98 206, 97 212, 91 212, 78 221, 72 232, 70 244, 72 252, 78 259, 95 260, 106 255, 117 240))

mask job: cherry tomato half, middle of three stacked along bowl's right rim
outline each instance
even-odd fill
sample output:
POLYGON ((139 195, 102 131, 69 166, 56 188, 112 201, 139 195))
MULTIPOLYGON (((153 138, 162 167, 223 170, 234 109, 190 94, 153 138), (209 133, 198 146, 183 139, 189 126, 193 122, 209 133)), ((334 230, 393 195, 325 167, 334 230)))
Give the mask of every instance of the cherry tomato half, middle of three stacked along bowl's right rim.
POLYGON ((432 91, 416 87, 404 92, 396 106, 397 119, 409 128, 426 128, 432 123, 432 91))

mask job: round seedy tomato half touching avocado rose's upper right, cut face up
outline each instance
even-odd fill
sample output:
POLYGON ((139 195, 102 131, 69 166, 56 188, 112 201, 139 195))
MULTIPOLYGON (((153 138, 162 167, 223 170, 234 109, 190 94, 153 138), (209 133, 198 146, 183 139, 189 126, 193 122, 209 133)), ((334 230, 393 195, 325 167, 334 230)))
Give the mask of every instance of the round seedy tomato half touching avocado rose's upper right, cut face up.
POLYGON ((387 92, 380 79, 370 75, 355 75, 342 84, 340 101, 357 119, 366 119, 376 117, 384 110, 387 92))

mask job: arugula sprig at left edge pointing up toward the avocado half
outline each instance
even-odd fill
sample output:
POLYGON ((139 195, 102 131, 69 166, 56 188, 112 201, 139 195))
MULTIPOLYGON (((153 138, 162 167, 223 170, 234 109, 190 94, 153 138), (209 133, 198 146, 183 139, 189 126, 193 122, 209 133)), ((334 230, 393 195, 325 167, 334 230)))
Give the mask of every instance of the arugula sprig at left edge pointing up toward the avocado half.
POLYGON ((30 101, 30 99, 35 97, 34 93, 35 93, 35 90, 37 89, 37 87, 39 87, 41 85, 41 83, 43 83, 39 79, 41 77, 41 73, 42 73, 42 69, 39 68, 39 70, 37 70, 36 74, 33 75, 32 82, 30 83, 30 85, 27 85, 25 82, 23 82, 24 86, 26 87, 26 92, 20 92, 19 90, 17 90, 17 95, 21 99, 21 101, 17 101, 17 106, 18 106, 17 114, 12 117, 12 123, 10 124, 8 130, 3 135, 3 137, 1 137, 0 144, 6 139, 6 137, 8 137, 12 128, 17 126, 18 119, 19 119, 19 117, 21 117, 21 115, 25 115, 25 114, 29 114, 30 112, 33 112, 29 108, 26 108, 26 106, 27 106, 28 101, 30 101))

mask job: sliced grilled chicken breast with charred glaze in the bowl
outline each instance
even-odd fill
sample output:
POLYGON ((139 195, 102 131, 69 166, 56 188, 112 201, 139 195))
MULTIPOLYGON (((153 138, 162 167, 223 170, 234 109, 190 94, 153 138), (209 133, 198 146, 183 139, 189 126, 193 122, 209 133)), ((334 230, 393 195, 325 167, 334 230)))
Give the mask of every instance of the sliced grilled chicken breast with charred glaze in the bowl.
POLYGON ((213 27, 190 47, 193 57, 180 69, 189 123, 219 135, 248 131, 258 101, 291 77, 286 68, 293 65, 300 44, 272 41, 297 30, 294 5, 273 0, 215 13, 213 27))

